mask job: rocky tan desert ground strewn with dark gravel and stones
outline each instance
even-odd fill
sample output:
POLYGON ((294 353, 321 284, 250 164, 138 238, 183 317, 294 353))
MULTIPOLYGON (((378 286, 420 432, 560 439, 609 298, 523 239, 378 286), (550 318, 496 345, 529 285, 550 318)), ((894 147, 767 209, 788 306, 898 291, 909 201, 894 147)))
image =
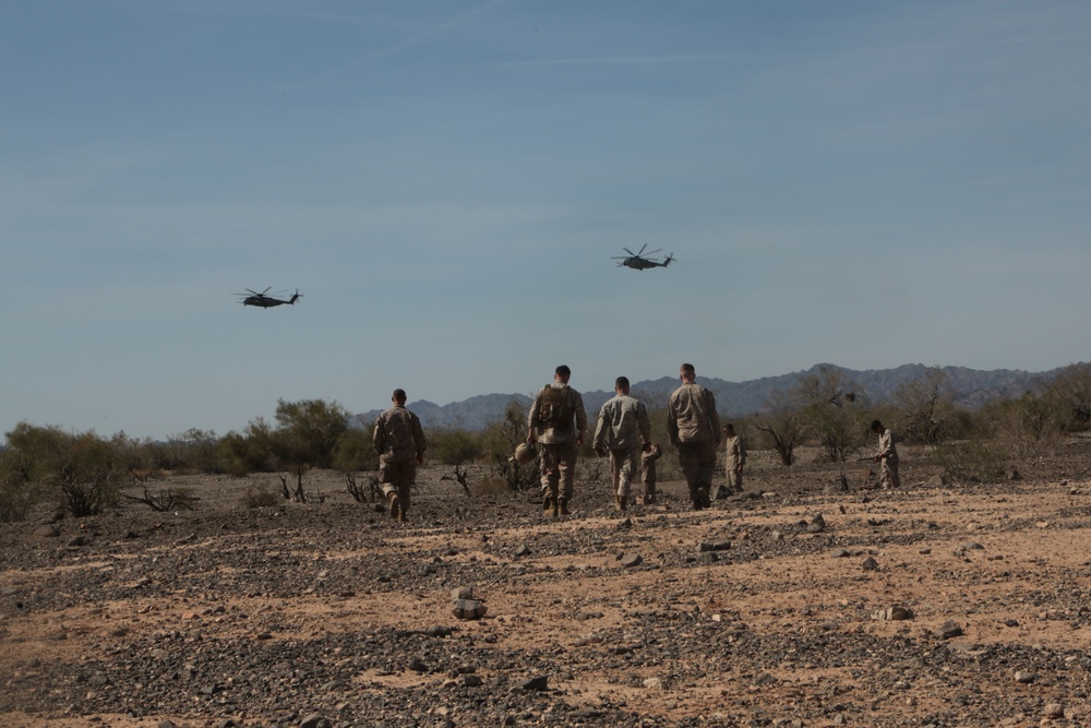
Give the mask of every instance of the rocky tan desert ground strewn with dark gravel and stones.
POLYGON ((672 480, 614 513, 586 461, 556 521, 441 465, 406 524, 326 472, 308 503, 175 475, 149 490, 194 510, 43 510, 0 524, 0 725, 1091 725, 1091 442, 970 487, 903 449, 894 491, 815 455, 752 452, 700 512, 672 480))

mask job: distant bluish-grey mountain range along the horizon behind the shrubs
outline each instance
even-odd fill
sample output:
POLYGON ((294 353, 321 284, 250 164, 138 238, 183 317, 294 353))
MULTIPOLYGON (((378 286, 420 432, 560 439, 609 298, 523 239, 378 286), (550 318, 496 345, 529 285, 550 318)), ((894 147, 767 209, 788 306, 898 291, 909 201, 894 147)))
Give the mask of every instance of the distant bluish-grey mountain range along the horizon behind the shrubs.
MULTIPOLYGON (((932 369, 932 367, 924 365, 904 365, 897 369, 856 371, 836 365, 820 363, 806 371, 779 377, 764 377, 747 382, 728 382, 699 374, 697 381, 710 389, 716 395, 716 403, 722 416, 742 417, 763 411, 772 392, 791 390, 798 384, 801 375, 816 373, 823 367, 841 372, 842 381, 852 382, 858 393, 866 395, 875 403, 888 401, 898 386, 921 379, 932 369)), ((1010 369, 982 371, 964 367, 943 367, 943 370, 947 374, 947 384, 955 394, 955 403, 969 409, 980 407, 991 399, 1019 396, 1028 390, 1034 390, 1051 382, 1062 371, 1060 368, 1045 372, 1010 369)), ((650 406, 663 406, 678 385, 678 377, 662 377, 634 383, 632 393, 650 406)), ((592 419, 603 403, 614 393, 595 390, 580 392, 580 394, 584 396, 587 417, 592 419)), ((507 405, 512 402, 528 406, 530 398, 525 394, 481 394, 448 405, 436 405, 427 399, 420 399, 410 402, 408 407, 417 413, 421 425, 425 428, 483 430, 493 422, 503 419, 507 405)), ((371 427, 381 411, 374 409, 357 415, 353 419, 358 426, 371 427)))

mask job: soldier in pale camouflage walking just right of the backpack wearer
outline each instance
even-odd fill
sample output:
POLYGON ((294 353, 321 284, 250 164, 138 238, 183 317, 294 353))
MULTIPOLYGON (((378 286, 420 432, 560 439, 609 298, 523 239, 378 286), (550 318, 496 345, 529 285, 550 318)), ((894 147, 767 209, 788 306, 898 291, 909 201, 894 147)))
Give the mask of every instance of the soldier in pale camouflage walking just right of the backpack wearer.
POLYGON ((628 378, 614 380, 614 398, 602 405, 599 413, 594 447, 599 457, 610 452, 614 508, 624 511, 628 505, 630 487, 636 475, 640 447, 651 440, 651 422, 644 403, 628 396, 628 378))

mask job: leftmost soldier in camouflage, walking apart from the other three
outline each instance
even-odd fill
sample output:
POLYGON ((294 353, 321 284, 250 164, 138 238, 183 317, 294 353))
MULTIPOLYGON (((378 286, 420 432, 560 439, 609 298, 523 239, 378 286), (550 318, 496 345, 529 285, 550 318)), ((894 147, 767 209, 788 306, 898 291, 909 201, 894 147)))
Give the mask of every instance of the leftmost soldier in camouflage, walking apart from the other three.
POLYGON ((417 466, 424 462, 424 431, 417 415, 406 409, 405 390, 394 390, 394 406, 375 418, 374 444, 379 453, 379 482, 391 506, 391 517, 405 521, 409 490, 417 466))

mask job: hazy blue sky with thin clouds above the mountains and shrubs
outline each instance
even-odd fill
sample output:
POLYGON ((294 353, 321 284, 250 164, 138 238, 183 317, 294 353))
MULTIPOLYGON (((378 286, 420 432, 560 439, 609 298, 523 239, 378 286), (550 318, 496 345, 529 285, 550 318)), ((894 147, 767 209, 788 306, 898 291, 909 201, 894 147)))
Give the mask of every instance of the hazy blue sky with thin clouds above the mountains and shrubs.
POLYGON ((1088 360, 1089 75, 1075 1, 16 0, 0 427, 1088 360))

